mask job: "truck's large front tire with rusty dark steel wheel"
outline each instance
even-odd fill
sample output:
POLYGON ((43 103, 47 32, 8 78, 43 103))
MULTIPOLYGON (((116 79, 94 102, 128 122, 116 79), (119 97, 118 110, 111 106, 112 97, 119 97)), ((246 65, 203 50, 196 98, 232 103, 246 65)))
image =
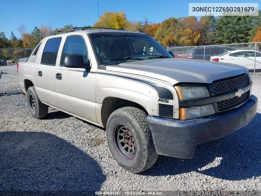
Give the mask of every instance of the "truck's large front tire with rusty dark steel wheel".
POLYGON ((157 161, 144 111, 135 107, 117 109, 109 116, 106 133, 112 156, 127 171, 143 172, 157 161))

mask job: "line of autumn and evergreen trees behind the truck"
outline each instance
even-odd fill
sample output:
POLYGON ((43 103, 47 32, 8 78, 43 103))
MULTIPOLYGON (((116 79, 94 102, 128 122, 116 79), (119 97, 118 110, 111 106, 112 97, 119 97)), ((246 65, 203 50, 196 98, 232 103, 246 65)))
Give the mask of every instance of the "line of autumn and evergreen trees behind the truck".
MULTIPOLYGON (((161 23, 151 23, 148 18, 140 21, 129 21, 123 11, 104 12, 94 27, 107 27, 140 31, 156 39, 162 46, 202 46, 229 43, 247 43, 261 41, 261 10, 258 16, 195 16, 170 17, 161 23)), ((88 24, 87 24, 88 25, 88 24)), ((0 48, 34 48, 38 42, 57 31, 72 29, 72 24, 55 28, 50 25, 35 27, 31 32, 21 24, 17 30, 21 38, 11 33, 10 39, 4 32, 0 33, 0 48)), ((90 27, 84 26, 84 27, 90 27)))

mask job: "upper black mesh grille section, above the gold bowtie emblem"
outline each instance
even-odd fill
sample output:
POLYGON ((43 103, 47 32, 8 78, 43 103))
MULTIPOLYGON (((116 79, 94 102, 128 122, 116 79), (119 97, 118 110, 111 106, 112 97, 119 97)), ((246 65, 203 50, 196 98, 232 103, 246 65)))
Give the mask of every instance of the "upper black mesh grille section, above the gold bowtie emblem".
POLYGON ((234 89, 238 89, 240 87, 247 85, 247 83, 248 83, 247 76, 244 75, 238 78, 233 78, 233 79, 213 83, 211 87, 213 88, 215 95, 217 95, 217 94, 232 91, 234 89))

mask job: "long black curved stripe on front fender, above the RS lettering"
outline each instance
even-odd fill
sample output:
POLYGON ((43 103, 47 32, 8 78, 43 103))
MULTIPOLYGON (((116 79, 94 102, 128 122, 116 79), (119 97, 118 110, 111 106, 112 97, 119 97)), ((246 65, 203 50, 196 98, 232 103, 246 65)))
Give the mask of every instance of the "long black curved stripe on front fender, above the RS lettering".
POLYGON ((153 82, 140 80, 140 79, 132 78, 132 77, 128 77, 128 76, 111 74, 111 73, 97 72, 97 74, 103 74, 103 75, 108 75, 108 76, 116 76, 116 77, 121 77, 121 78, 125 78, 125 79, 128 79, 128 80, 133 80, 133 81, 137 81, 137 82, 140 82, 140 83, 144 83, 144 84, 147 84, 147 85, 151 86, 152 88, 154 88, 158 92, 159 98, 170 99, 170 100, 174 99, 173 94, 169 89, 167 89, 166 87, 164 87, 162 85, 155 84, 153 82))

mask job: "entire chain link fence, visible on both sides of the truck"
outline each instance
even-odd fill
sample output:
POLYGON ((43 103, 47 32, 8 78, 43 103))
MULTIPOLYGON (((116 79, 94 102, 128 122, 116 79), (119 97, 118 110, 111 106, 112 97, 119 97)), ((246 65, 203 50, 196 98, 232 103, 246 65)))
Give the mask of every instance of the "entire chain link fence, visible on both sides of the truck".
MULTIPOLYGON (((33 49, 0 49, 0 95, 19 92, 17 63, 33 49)), ((145 50, 145 49, 144 49, 145 50)), ((199 59, 242 65, 249 72, 261 72, 261 42, 213 46, 167 46, 175 58, 199 59)), ((147 53, 155 53, 148 48, 147 53)), ((157 54, 157 53, 155 53, 157 54)))

